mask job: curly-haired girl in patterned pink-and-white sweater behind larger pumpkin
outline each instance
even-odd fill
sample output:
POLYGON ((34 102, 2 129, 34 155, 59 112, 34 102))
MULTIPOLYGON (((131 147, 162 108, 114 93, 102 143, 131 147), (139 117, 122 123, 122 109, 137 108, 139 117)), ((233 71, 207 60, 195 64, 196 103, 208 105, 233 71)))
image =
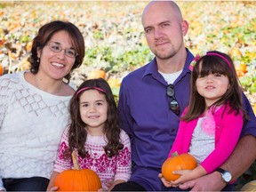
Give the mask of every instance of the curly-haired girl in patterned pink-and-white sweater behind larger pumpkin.
POLYGON ((60 172, 73 168, 73 151, 81 169, 92 169, 99 175, 103 190, 129 180, 131 143, 120 129, 108 83, 102 78, 85 81, 71 99, 69 112, 71 124, 62 135, 48 189, 52 190, 60 172))

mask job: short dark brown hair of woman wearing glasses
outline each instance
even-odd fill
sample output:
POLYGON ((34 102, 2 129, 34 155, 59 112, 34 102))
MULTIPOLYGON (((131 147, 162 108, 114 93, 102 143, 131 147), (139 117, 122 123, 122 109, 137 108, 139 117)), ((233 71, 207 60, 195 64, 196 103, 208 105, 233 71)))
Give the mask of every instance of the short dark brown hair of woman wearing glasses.
POLYGON ((71 68, 71 71, 69 71, 68 75, 65 76, 69 83, 69 80, 71 78, 71 72, 75 68, 79 68, 83 63, 85 48, 84 37, 81 34, 80 30, 76 28, 74 24, 68 21, 54 20, 52 22, 45 24, 38 30, 38 33, 33 40, 31 56, 29 58, 29 61, 31 63, 30 71, 33 74, 36 74, 38 72, 40 63, 37 62, 37 50, 43 50, 44 46, 50 41, 52 36, 59 31, 66 31, 68 33, 68 35, 71 38, 72 44, 76 52, 78 53, 73 68, 71 68))

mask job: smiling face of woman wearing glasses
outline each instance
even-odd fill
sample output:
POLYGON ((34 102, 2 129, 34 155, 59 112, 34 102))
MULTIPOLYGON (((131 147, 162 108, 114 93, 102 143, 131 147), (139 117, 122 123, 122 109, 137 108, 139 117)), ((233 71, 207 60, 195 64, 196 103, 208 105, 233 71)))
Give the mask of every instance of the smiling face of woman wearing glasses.
POLYGON ((37 57, 40 58, 38 74, 62 80, 75 64, 76 57, 70 57, 74 51, 71 38, 66 31, 55 33, 42 50, 37 50, 37 57))

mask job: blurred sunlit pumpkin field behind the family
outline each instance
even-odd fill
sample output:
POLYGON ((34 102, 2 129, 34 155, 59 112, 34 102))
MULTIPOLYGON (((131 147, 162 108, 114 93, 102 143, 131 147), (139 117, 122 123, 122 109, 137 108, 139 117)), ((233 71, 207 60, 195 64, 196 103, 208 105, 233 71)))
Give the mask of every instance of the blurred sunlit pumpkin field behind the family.
MULTIPOLYGON (((153 58, 140 22, 148 1, 0 2, 0 75, 29 69, 37 30, 51 20, 69 20, 82 31, 86 52, 72 83, 108 80, 118 100, 122 78, 153 58)), ((194 53, 219 50, 235 61, 236 72, 256 109, 256 2, 177 1, 188 20, 187 47, 194 53)), ((256 180, 255 164, 237 188, 256 180)))

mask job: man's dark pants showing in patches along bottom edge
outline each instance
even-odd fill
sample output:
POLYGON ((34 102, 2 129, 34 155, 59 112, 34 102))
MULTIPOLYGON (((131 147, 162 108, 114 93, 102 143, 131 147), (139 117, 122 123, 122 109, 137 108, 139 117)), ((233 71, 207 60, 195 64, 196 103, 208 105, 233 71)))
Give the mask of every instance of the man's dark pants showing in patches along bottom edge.
MULTIPOLYGON (((227 185, 221 191, 233 191, 235 184, 227 185)), ((189 191, 190 188, 187 190, 182 190, 180 188, 166 188, 166 191, 189 191)), ((133 181, 127 181, 124 183, 117 184, 111 191, 146 191, 145 188, 142 188, 138 183, 133 181)), ((165 191, 165 190, 164 190, 165 191)))

